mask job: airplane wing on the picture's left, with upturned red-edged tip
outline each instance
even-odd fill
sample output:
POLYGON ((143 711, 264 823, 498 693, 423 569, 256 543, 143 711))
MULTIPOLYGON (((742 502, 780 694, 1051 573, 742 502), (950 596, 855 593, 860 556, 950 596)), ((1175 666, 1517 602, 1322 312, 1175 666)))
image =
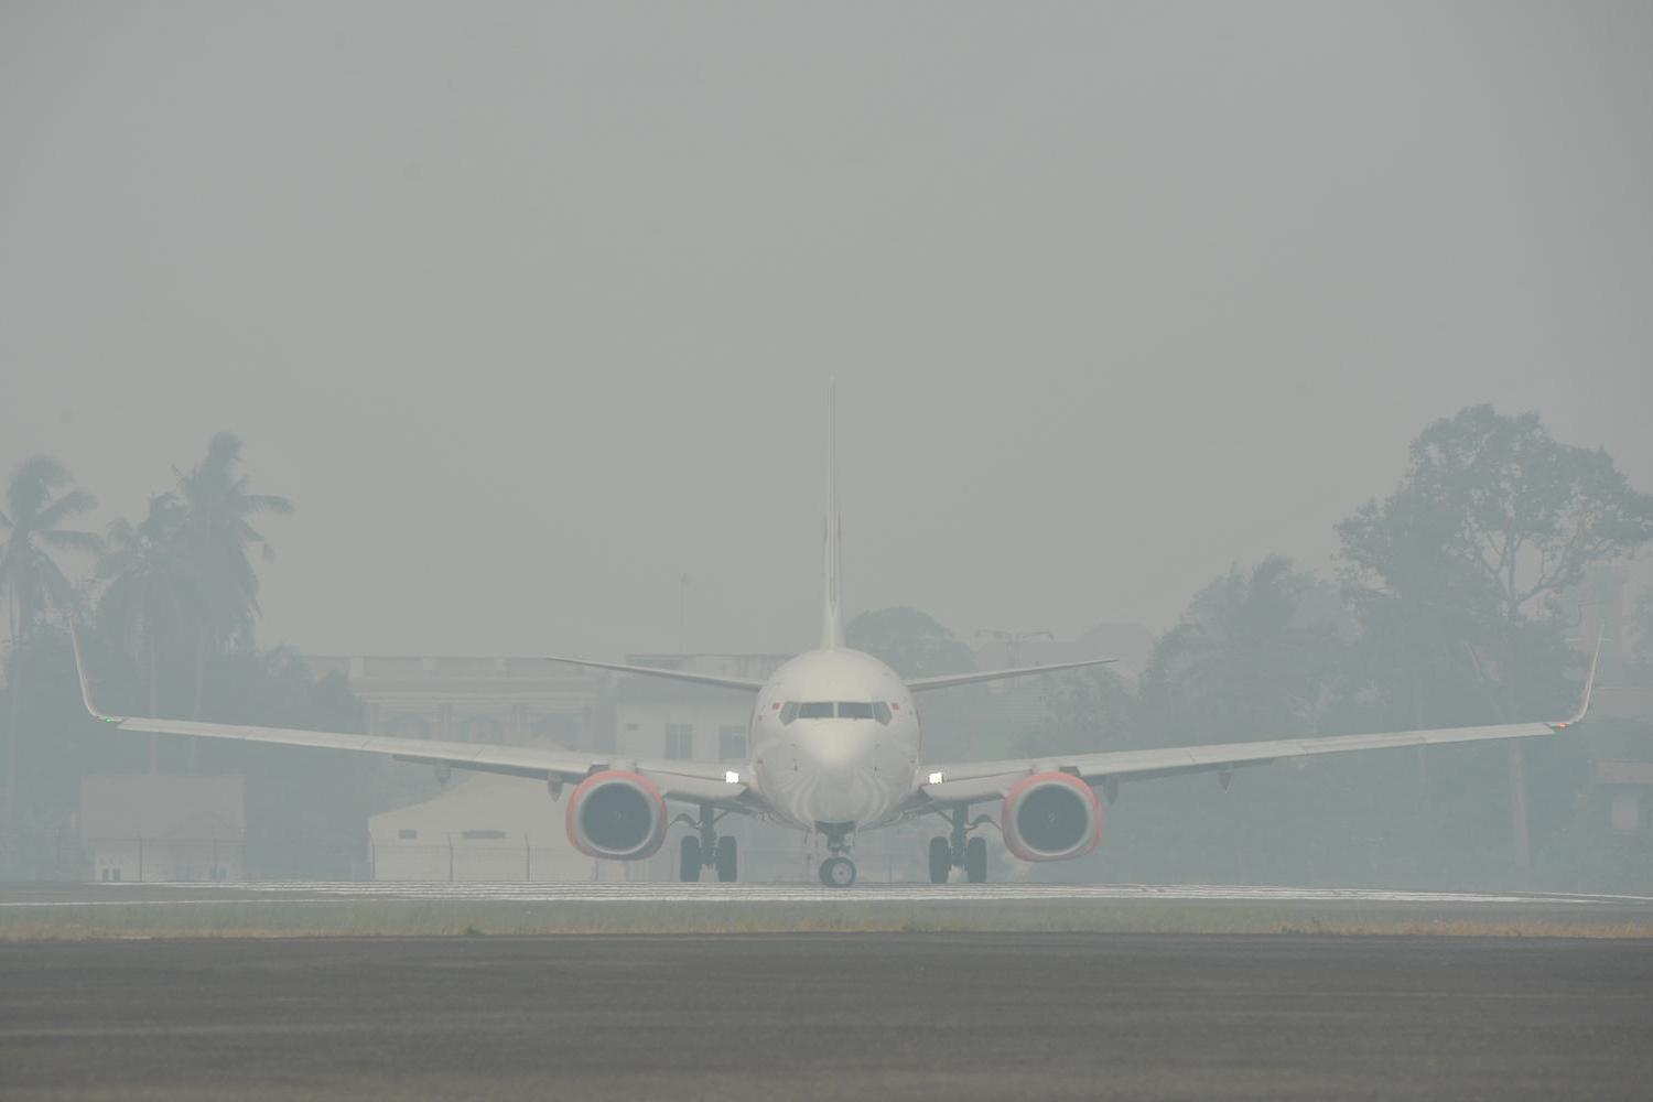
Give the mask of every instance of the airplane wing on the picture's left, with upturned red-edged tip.
MULTIPOLYGON (((286 747, 349 750, 377 753, 400 762, 418 762, 438 768, 506 773, 545 781, 579 783, 603 770, 633 770, 660 788, 668 800, 716 803, 737 810, 759 810, 759 796, 746 778, 729 780, 726 765, 709 762, 635 760, 585 750, 545 750, 539 747, 506 747, 483 742, 445 742, 436 739, 397 739, 390 735, 350 735, 288 727, 245 727, 236 724, 203 724, 183 719, 149 719, 142 715, 109 715, 93 702, 79 638, 74 638, 74 664, 81 677, 81 701, 86 710, 121 730, 155 735, 190 735, 231 742, 266 742, 286 747)), ((739 777, 739 775, 737 775, 739 777)))

